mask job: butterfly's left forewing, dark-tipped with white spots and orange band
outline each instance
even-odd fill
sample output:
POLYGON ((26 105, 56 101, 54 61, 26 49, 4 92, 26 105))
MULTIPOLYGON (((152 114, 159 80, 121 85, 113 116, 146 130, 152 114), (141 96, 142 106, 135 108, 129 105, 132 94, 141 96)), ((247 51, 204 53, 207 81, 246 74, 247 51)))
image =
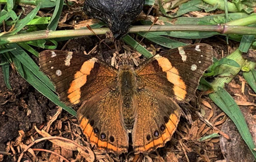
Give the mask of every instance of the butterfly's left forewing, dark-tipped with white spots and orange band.
POLYGON ((115 68, 78 52, 45 50, 40 53, 39 63, 67 105, 81 103, 110 87, 117 75, 115 68))

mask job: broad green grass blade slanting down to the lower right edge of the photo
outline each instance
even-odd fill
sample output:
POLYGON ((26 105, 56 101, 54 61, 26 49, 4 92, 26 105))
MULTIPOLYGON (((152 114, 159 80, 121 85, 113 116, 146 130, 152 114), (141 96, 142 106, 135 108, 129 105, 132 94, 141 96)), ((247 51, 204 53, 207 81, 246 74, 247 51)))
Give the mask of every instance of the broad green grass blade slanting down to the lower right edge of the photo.
POLYGON ((242 138, 244 139, 245 143, 250 148, 254 158, 256 159, 256 151, 253 150, 255 146, 249 128, 245 122, 242 112, 239 109, 239 106, 234 101, 234 99, 229 95, 229 93, 226 92, 226 90, 221 87, 218 87, 218 90, 215 93, 209 94, 209 97, 234 122, 242 138))

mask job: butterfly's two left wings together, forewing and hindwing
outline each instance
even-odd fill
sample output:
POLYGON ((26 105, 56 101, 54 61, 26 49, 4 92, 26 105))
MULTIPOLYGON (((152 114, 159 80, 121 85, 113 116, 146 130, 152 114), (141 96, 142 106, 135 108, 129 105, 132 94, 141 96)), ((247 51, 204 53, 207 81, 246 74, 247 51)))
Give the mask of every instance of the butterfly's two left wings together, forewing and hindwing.
POLYGON ((90 143, 118 154, 127 152, 129 140, 120 114, 117 69, 96 58, 61 50, 41 52, 39 62, 62 102, 82 103, 77 117, 90 143))

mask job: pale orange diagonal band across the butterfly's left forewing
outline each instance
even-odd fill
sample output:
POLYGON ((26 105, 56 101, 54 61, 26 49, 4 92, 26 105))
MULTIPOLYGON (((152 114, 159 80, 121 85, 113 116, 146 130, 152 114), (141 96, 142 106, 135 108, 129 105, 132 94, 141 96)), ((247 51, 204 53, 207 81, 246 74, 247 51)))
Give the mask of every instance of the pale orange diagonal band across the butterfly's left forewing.
POLYGON ((70 84, 70 88, 68 90, 68 98, 69 101, 73 104, 77 104, 80 102, 81 98, 81 90, 80 88, 86 84, 87 75, 90 74, 91 70, 94 67, 95 58, 92 58, 86 62, 84 62, 81 66, 81 69, 77 71, 74 75, 74 80, 70 84))

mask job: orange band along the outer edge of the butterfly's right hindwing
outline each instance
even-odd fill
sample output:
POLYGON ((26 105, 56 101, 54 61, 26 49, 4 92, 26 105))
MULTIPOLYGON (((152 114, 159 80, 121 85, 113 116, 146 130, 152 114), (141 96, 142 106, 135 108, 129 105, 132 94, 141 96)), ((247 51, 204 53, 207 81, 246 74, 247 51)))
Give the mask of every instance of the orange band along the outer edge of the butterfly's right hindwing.
POLYGON ((176 130, 176 126, 178 124, 179 120, 178 117, 175 114, 171 114, 169 116, 169 121, 168 123, 165 124, 165 130, 164 133, 161 133, 161 136, 153 140, 152 142, 148 143, 145 145, 145 150, 144 148, 138 148, 139 151, 147 151, 150 150, 151 148, 154 148, 156 146, 163 146, 166 141, 168 141, 170 138, 172 138, 172 135, 174 131, 176 130))

